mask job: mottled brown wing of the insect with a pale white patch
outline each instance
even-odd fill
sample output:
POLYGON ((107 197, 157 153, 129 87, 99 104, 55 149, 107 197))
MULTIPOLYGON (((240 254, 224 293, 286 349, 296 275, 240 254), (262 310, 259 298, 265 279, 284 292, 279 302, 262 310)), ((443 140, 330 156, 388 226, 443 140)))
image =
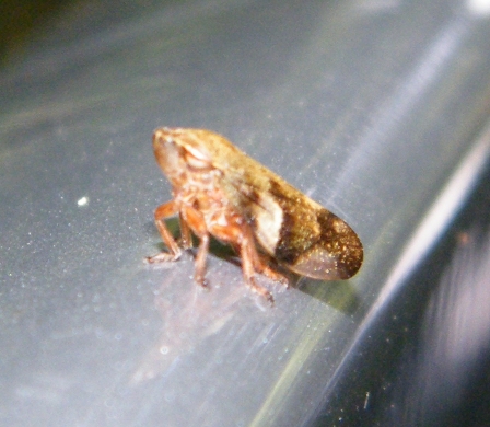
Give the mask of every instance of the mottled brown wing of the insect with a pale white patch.
POLYGON ((284 180, 260 168, 260 181, 234 173, 226 176, 228 185, 234 187, 234 203, 246 212, 260 246, 300 275, 324 280, 352 277, 363 261, 355 232, 284 180), (241 199, 236 199, 237 194, 241 199))

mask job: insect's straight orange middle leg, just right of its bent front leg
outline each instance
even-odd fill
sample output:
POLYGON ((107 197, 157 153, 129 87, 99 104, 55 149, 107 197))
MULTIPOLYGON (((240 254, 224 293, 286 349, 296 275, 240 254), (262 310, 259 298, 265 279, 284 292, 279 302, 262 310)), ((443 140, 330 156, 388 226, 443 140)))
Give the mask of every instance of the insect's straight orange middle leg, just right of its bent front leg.
MULTIPOLYGON (((185 206, 182 210, 182 222, 186 223, 187 232, 189 228, 196 233, 196 235, 200 239, 199 249, 197 251, 197 256, 195 261, 196 273, 194 275, 194 279, 202 287, 207 287, 208 282, 205 278, 206 276, 206 257, 209 252, 209 232, 206 227, 205 218, 202 214, 198 210, 185 206)), ((189 233, 190 238, 190 233, 189 233)))

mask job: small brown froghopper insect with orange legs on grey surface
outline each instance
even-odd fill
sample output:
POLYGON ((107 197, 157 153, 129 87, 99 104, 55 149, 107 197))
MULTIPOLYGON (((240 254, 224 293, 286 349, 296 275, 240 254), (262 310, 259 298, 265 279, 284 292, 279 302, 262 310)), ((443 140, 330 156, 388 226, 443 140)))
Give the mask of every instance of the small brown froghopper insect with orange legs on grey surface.
POLYGON ((182 249, 200 240, 195 280, 207 287, 210 236, 231 244, 242 258, 245 284, 273 303, 255 281, 262 274, 288 286, 270 258, 315 279, 348 279, 361 267, 363 249, 340 218, 247 157, 221 135, 205 129, 162 127, 153 134, 156 162, 172 184, 173 199, 159 206, 154 219, 168 252, 148 263, 176 261, 182 249), (178 216, 180 242, 165 219, 178 216))

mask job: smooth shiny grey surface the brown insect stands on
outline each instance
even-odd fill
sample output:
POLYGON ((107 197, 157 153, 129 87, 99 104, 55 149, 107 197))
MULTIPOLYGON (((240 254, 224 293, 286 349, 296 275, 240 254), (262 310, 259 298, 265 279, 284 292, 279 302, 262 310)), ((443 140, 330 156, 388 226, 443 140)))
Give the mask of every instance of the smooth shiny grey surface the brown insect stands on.
POLYGON ((0 73, 0 419, 306 424, 488 160, 486 2, 117 8, 67 10, 0 73), (264 280, 269 309, 222 247, 210 292, 190 255, 145 266, 160 126, 219 131, 339 215, 359 275, 264 280))

